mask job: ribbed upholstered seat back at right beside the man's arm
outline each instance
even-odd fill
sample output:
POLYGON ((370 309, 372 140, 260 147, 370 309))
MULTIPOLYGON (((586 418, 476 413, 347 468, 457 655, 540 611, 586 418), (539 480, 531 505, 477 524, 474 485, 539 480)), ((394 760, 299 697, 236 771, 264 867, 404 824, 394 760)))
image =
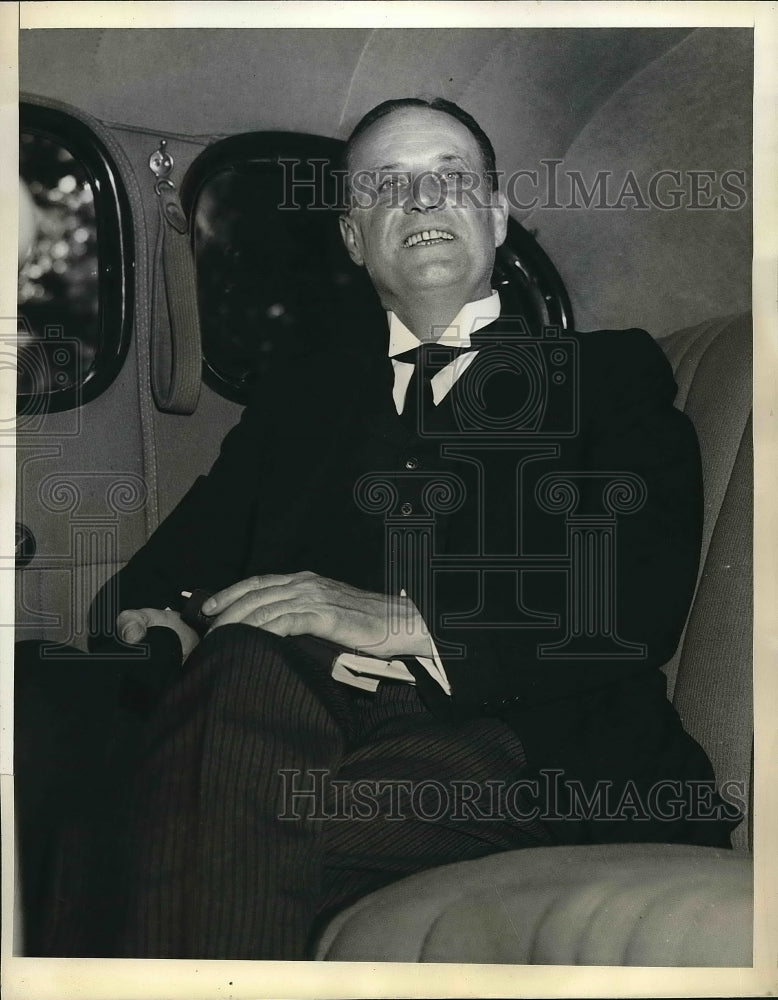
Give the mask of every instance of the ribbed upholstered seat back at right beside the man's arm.
MULTIPOLYGON (((668 694, 705 748, 719 783, 750 784, 752 696, 750 316, 711 320, 660 341, 702 452, 705 526, 697 592, 679 649, 665 667, 668 694)), ((748 845, 750 822, 733 835, 748 845)))

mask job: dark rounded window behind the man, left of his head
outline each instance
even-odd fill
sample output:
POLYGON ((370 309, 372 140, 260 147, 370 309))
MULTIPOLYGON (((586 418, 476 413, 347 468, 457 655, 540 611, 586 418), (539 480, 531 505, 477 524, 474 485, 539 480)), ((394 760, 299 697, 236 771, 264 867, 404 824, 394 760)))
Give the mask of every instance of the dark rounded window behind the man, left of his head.
POLYGON ((250 133, 216 143, 187 174, 204 377, 228 398, 243 401, 300 352, 332 352, 382 322, 340 238, 340 148, 321 136, 250 133))

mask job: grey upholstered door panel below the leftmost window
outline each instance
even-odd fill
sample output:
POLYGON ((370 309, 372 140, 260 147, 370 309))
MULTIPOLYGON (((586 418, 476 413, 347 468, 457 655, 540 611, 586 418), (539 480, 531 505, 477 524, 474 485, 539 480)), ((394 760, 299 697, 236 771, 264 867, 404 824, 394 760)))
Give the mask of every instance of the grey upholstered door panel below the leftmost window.
POLYGON ((134 345, 96 399, 20 421, 17 520, 33 531, 37 553, 16 572, 19 639, 84 645, 92 596, 148 533, 145 505, 117 511, 108 492, 125 483, 129 495, 148 483, 142 437, 134 345))

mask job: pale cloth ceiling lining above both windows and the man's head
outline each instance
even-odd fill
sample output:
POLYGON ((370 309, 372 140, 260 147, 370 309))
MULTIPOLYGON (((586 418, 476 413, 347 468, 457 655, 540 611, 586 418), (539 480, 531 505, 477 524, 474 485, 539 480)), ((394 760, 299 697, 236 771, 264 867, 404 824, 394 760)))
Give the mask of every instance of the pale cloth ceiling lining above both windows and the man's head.
POLYGON ((20 75, 23 90, 97 118, 191 135, 344 138, 387 97, 441 95, 475 114, 515 168, 564 151, 596 107, 690 30, 33 30, 20 36, 20 75))

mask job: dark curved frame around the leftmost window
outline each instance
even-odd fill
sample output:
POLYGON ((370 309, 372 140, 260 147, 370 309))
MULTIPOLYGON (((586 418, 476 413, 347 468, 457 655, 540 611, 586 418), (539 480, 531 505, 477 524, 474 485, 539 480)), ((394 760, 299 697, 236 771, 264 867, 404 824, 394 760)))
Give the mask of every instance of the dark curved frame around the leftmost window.
POLYGON ((18 392, 17 413, 62 413, 89 403, 113 383, 132 340, 135 239, 130 201, 105 144, 83 121, 59 108, 19 102, 19 132, 66 149, 83 167, 95 206, 97 229, 97 348, 80 383, 45 392, 18 392))

